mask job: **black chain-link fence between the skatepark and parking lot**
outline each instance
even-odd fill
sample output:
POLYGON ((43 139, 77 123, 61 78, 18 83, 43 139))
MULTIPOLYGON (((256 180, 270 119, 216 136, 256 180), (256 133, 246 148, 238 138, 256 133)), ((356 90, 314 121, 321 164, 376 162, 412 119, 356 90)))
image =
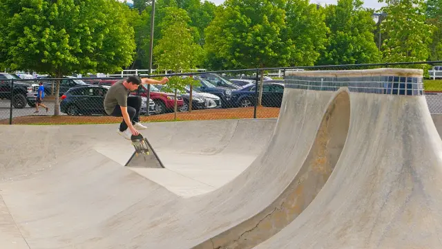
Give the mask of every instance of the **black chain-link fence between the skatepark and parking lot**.
MULTIPOLYGON (((128 98, 133 98, 130 100, 141 98, 141 122, 278 118, 284 95, 286 71, 414 67, 425 68, 423 84, 430 112, 442 113, 442 66, 439 65, 442 65, 442 62, 255 68, 175 75, 140 75, 155 76, 157 80, 163 76, 176 76, 182 80, 191 78, 193 81, 187 84, 188 81, 179 91, 173 91, 166 85, 142 84, 128 98), (262 91, 260 91, 261 84, 262 91)), ((2 73, 0 74, 0 124, 122 122, 122 118, 108 116, 103 104, 109 87, 122 79, 122 77, 63 77, 21 80, 14 75, 2 73), (59 82, 58 98, 57 82, 59 82), (39 89, 44 89, 44 98, 41 105, 37 106, 39 89)))

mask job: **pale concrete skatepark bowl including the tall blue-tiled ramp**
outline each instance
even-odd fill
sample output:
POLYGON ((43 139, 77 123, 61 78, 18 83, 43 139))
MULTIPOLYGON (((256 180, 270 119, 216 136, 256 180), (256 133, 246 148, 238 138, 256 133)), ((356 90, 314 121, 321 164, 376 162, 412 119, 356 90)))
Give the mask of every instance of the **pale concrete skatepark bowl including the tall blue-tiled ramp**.
POLYGON ((278 119, 146 124, 160 161, 115 124, 1 126, 0 248, 441 248, 422 71, 285 75, 278 119))

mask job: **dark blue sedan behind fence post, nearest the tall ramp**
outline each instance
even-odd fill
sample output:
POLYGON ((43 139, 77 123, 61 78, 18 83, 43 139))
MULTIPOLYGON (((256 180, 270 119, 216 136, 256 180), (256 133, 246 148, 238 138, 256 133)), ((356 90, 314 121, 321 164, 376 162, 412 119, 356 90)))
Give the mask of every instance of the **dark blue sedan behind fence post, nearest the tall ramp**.
MULTIPOLYGON (((232 92, 231 104, 233 107, 253 107, 255 103, 256 84, 251 83, 240 90, 232 92)), ((258 85, 259 93, 259 85, 258 85)), ((281 107, 282 96, 284 95, 284 84, 262 83, 263 107, 281 107)))

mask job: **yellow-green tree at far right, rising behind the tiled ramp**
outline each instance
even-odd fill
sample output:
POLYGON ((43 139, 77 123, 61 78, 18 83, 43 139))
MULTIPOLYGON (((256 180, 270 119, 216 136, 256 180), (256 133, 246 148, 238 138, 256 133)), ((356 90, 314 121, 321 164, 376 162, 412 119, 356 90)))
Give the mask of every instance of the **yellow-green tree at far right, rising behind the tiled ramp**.
MULTIPOLYGON (((419 62, 430 56, 434 26, 426 23, 423 0, 385 0, 381 9, 387 17, 381 24, 386 39, 383 42, 385 62, 419 62)), ((424 64, 412 65, 427 69, 424 64)))

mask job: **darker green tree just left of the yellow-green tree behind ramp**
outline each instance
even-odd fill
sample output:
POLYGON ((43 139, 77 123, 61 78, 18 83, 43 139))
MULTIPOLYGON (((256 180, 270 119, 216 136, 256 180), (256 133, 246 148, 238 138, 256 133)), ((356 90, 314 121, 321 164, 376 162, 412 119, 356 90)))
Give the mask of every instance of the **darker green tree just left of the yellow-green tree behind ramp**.
POLYGON ((318 64, 364 64, 378 61, 376 23, 361 0, 338 0, 325 8, 330 33, 318 64))

